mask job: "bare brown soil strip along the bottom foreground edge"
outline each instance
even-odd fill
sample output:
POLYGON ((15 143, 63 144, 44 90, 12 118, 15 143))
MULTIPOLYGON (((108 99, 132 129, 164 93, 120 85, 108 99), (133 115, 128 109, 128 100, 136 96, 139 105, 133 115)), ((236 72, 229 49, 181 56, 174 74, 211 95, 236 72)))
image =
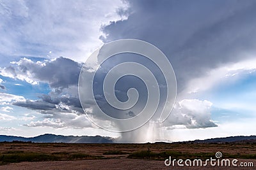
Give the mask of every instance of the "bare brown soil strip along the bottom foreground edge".
MULTIPOLYGON (((256 160, 240 160, 244 162, 253 162, 256 160)), ((52 162, 21 162, 0 166, 0 169, 12 170, 35 170, 35 169, 256 169, 256 167, 166 167, 160 160, 140 160, 140 159, 105 159, 105 160, 72 160, 72 161, 52 161, 52 162)))

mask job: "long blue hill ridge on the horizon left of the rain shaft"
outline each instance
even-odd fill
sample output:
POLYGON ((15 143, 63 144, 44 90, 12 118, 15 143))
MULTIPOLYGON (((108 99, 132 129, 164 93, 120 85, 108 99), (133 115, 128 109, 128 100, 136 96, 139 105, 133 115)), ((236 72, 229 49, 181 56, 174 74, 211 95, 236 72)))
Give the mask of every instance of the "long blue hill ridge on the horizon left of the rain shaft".
POLYGON ((33 138, 0 135, 0 142, 3 141, 31 141, 35 143, 113 143, 113 138, 102 136, 62 136, 55 134, 43 134, 33 138))

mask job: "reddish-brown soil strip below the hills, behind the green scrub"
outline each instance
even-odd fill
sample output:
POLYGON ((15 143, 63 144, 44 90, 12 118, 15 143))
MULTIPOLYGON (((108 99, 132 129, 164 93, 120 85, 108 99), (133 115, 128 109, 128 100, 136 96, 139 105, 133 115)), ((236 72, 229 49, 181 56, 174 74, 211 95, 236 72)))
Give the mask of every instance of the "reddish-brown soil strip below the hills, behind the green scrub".
POLYGON ((188 153, 222 152, 230 154, 255 154, 256 144, 176 144, 176 143, 145 143, 145 144, 70 144, 70 143, 1 143, 0 153, 7 151, 24 152, 82 152, 90 155, 102 155, 109 150, 121 150, 133 153, 138 150, 152 152, 180 151, 188 153))

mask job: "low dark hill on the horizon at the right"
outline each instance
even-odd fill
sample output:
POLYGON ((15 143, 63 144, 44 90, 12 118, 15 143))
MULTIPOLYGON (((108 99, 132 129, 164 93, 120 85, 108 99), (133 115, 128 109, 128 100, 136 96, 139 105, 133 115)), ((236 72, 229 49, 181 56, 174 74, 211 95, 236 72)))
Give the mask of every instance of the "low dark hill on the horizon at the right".
POLYGON ((226 138, 184 141, 182 143, 256 143, 256 136, 230 136, 226 138))

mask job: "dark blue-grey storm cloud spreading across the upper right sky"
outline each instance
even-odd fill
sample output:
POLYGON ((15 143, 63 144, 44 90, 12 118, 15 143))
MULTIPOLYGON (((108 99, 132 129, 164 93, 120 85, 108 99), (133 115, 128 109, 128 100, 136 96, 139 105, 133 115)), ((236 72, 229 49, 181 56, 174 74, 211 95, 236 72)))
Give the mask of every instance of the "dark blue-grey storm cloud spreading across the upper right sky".
POLYGON ((256 49, 255 1, 128 1, 127 20, 103 28, 104 42, 134 38, 168 57, 181 92, 189 80, 256 49))

